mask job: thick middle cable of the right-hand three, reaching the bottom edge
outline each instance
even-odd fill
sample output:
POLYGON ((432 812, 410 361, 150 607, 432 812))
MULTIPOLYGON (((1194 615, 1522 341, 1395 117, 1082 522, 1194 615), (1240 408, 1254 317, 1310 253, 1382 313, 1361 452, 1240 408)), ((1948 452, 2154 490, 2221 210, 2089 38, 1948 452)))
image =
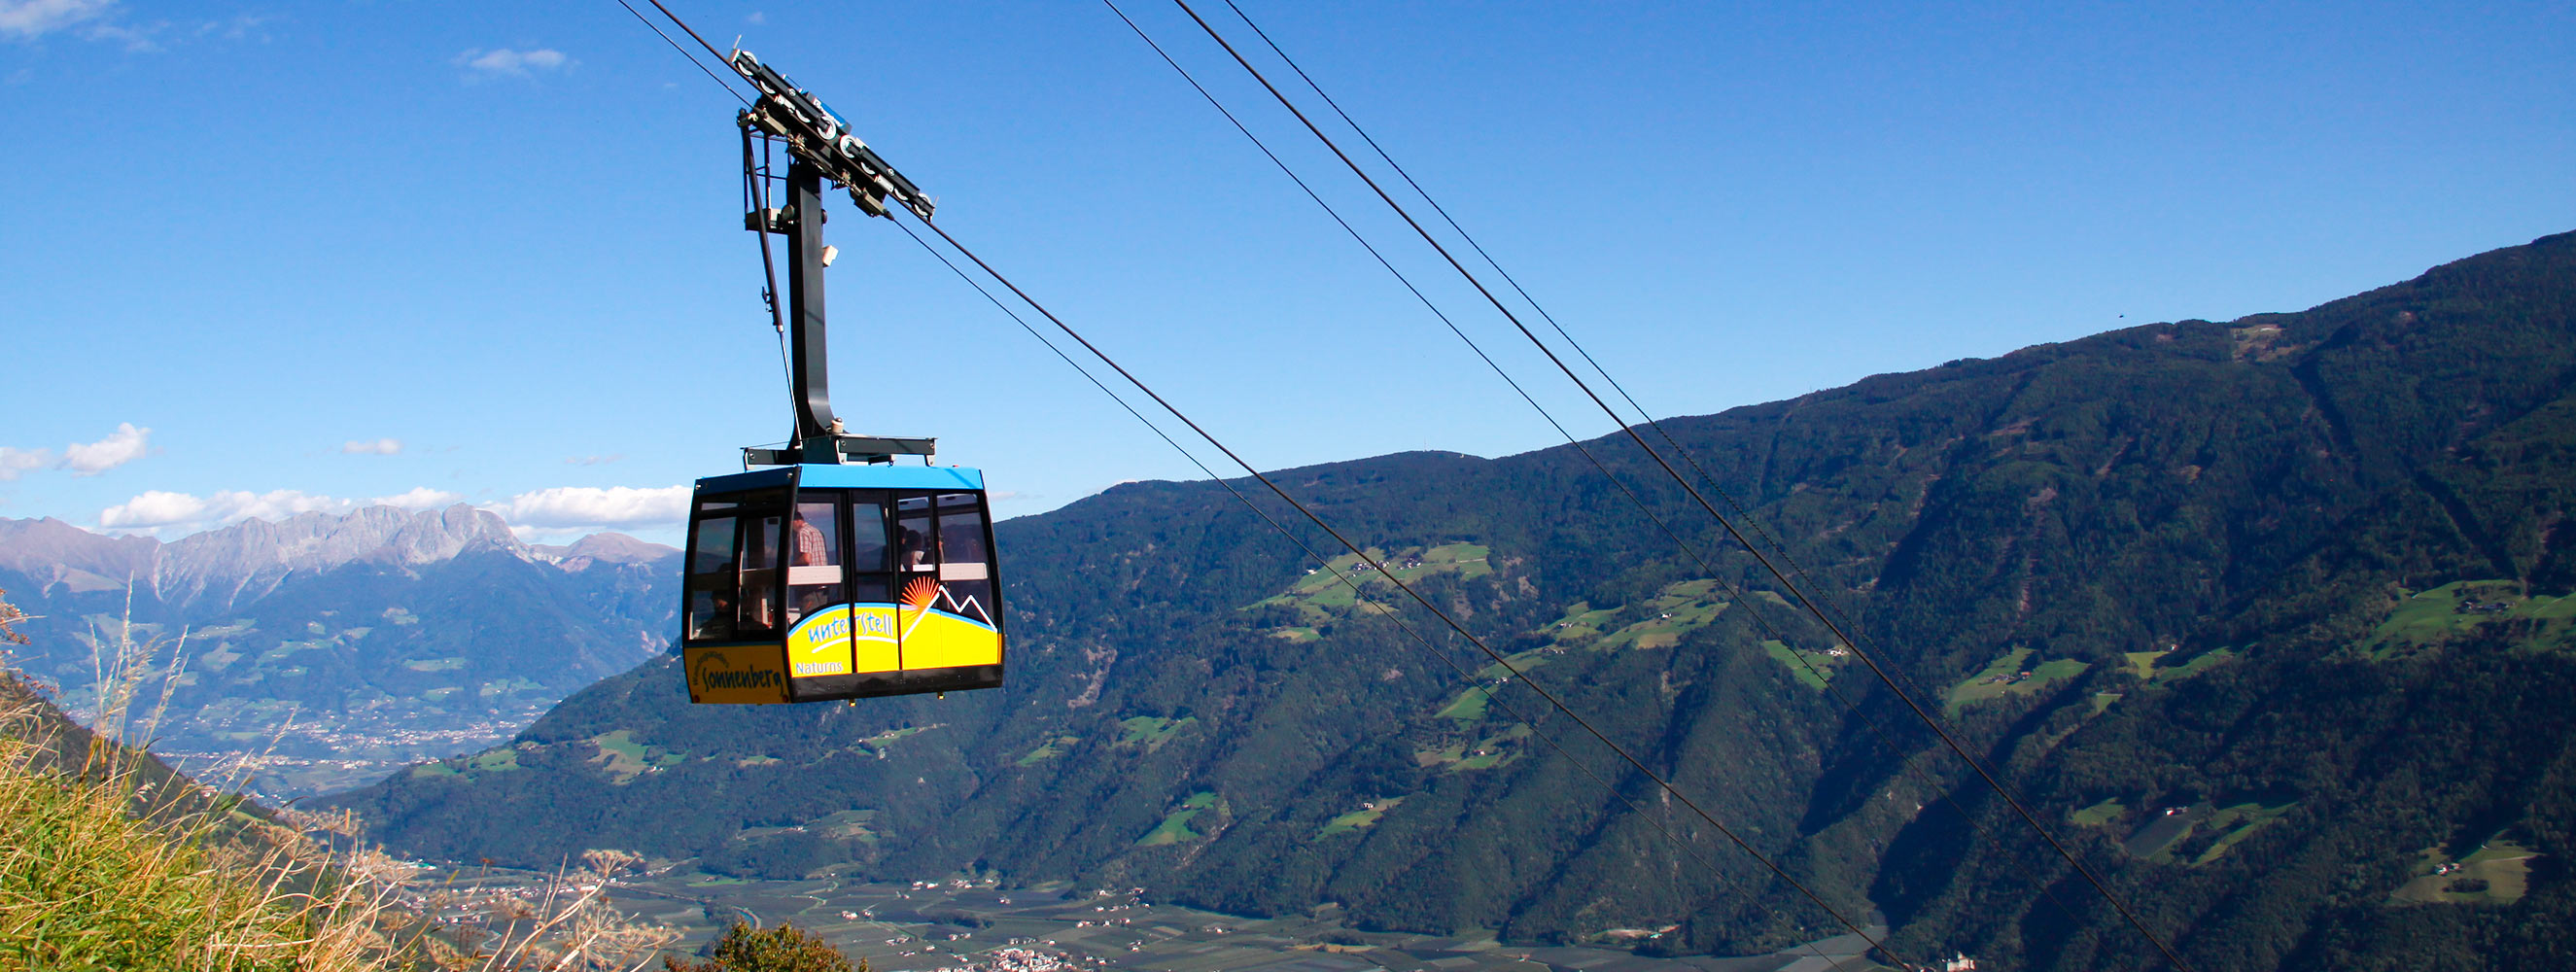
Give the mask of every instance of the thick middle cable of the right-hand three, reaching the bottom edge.
MULTIPOLYGON (((1278 85, 1273 85, 1273 83, 1270 83, 1270 77, 1265 77, 1265 75, 1260 72, 1260 67, 1252 67, 1252 62, 1249 62, 1249 59, 1244 59, 1244 54, 1242 54, 1242 52, 1236 52, 1236 49, 1234 49, 1234 44, 1229 44, 1229 41, 1224 39, 1224 34, 1218 34, 1218 31, 1216 31, 1216 26, 1211 26, 1211 23, 1208 23, 1206 18, 1200 18, 1200 15, 1198 15, 1198 10, 1195 10, 1195 8, 1190 8, 1190 0, 1172 0, 1172 3, 1175 3, 1175 5, 1180 5, 1180 10, 1182 10, 1182 13, 1188 13, 1188 15, 1190 15, 1190 21, 1195 21, 1200 31, 1206 31, 1206 34, 1208 34, 1208 39, 1213 39, 1213 41, 1216 41, 1218 46, 1224 46, 1224 49, 1226 49, 1226 54, 1231 54, 1231 57, 1234 57, 1234 62, 1244 67, 1244 72, 1249 72, 1249 75, 1252 75, 1255 80, 1260 80, 1260 85, 1262 85, 1265 90, 1270 90, 1270 95, 1273 95, 1273 98, 1278 98, 1278 103, 1280 103, 1283 108, 1288 108, 1288 113, 1293 113, 1293 116, 1296 116, 1296 119, 1298 119, 1298 121, 1301 121, 1301 124, 1306 126, 1306 131, 1314 131, 1314 137, 1316 137, 1319 142, 1324 142, 1324 147, 1329 147, 1329 150, 1332 150, 1332 155, 1334 155, 1334 157, 1340 157, 1340 160, 1342 160, 1342 165, 1347 165, 1347 168, 1352 170, 1352 175, 1360 175, 1360 180, 1363 180, 1363 183, 1368 183, 1368 188, 1370 188, 1370 191, 1376 191, 1376 193, 1378 193, 1378 199, 1381 199, 1381 201, 1386 201, 1386 206, 1388 206, 1388 209, 1394 209, 1394 211, 1396 211, 1396 217, 1401 217, 1401 219, 1404 219, 1404 224, 1409 224, 1409 227, 1414 229, 1414 235, 1419 235, 1419 237, 1422 237, 1422 242, 1430 242, 1430 245, 1432 245, 1432 250, 1437 250, 1437 253, 1440 253, 1440 258, 1443 258, 1443 260, 1448 260, 1448 263, 1450 263, 1450 268, 1455 268, 1455 271, 1458 271, 1458 276, 1463 276, 1463 278, 1466 278, 1466 281, 1468 281, 1468 284, 1471 284, 1471 286, 1473 286, 1473 289, 1476 289, 1479 294, 1484 294, 1484 299, 1486 299, 1489 304, 1494 304, 1494 309, 1497 309, 1497 312, 1502 312, 1502 317, 1504 317, 1504 320, 1510 320, 1510 322, 1512 322, 1512 327, 1517 327, 1517 330, 1520 330, 1520 333, 1522 333, 1522 335, 1525 335, 1525 338, 1528 338, 1528 340, 1533 343, 1533 345, 1538 345, 1538 351, 1540 351, 1540 353, 1546 353, 1546 356, 1548 356, 1548 361, 1551 361, 1551 364, 1556 364, 1556 369, 1558 369, 1558 371, 1564 371, 1564 374, 1566 374, 1566 379, 1571 379, 1571 382, 1574 382, 1574 387, 1584 392, 1584 397, 1589 397, 1589 400, 1592 400, 1595 405, 1600 405, 1600 410, 1602 410, 1602 413, 1607 413, 1607 415, 1610 415, 1610 420, 1613 420, 1613 423, 1618 423, 1618 425, 1620 425, 1620 431, 1623 431, 1623 433, 1628 433, 1628 438, 1631 438, 1631 441, 1633 441, 1633 443, 1636 443, 1636 446, 1638 446, 1641 451, 1646 451, 1646 456, 1649 456, 1649 459, 1654 459, 1654 462, 1656 462, 1659 467, 1664 467, 1664 474, 1667 474, 1667 477, 1672 477, 1672 482, 1682 485, 1682 490, 1685 490, 1685 492, 1687 492, 1687 495, 1690 495, 1690 498, 1692 498, 1692 500, 1695 500, 1695 503, 1698 503, 1698 505, 1700 505, 1703 510, 1708 510, 1708 516, 1710 516, 1710 518, 1716 518, 1716 521, 1718 521, 1718 526, 1723 526, 1723 529, 1726 529, 1726 534, 1736 539, 1736 544, 1744 544, 1744 549, 1747 549, 1749 554, 1754 554, 1754 559, 1757 559, 1757 562, 1762 562, 1762 567, 1765 567, 1765 570, 1770 570, 1770 575, 1772 575, 1775 580, 1780 580, 1780 585, 1783 585, 1783 588, 1788 588, 1788 593, 1790 593, 1790 596, 1795 596, 1795 598, 1798 598, 1798 603, 1801 603, 1801 606, 1803 606, 1803 608, 1806 608, 1808 614, 1814 614, 1814 616, 1816 616, 1816 621, 1821 621, 1821 624, 1824 624, 1824 627, 1826 627, 1829 632, 1834 632, 1834 637, 1837 637, 1837 639, 1839 639, 1839 642, 1842 642, 1842 645, 1844 645, 1844 647, 1847 647, 1847 650, 1852 652, 1852 657, 1860 657, 1860 663, 1862 663, 1862 665, 1868 665, 1868 668, 1870 668, 1870 673, 1873 673, 1873 676, 1878 676, 1878 681, 1883 681, 1883 683, 1888 686, 1888 691, 1891 691, 1891 694, 1896 694, 1896 699, 1899 699, 1899 701, 1904 701, 1904 704, 1906 704, 1906 709, 1911 709, 1911 712, 1914 712, 1914 717, 1917 717, 1917 719, 1922 719, 1922 722, 1924 722, 1927 727, 1932 727, 1932 732, 1935 732, 1935 735, 1940 735, 1940 740, 1942 740, 1945 745, 1950 745, 1950 750, 1953 750, 1953 753, 1958 753, 1958 758, 1960 758, 1960 761, 1965 761, 1965 763, 1968 763, 1968 768, 1973 768, 1973 771, 1976 771, 1976 776, 1978 776, 1978 779, 1984 779, 1984 781, 1986 781, 1986 786, 1989 786, 1989 789, 1994 789, 1994 794, 1996 794, 1996 797, 2002 797, 2002 799, 2004 799, 2004 804, 2009 804, 2009 807, 2012 807, 2012 810, 2014 810, 2014 812, 2017 812, 2017 815, 2022 817, 2022 822, 2027 822, 2027 825, 2030 825, 2030 830, 2032 830, 2032 833, 2038 833, 2038 835, 2040 835, 2043 841, 2048 841, 2048 846, 2050 846, 2050 848, 2053 848, 2053 851, 2056 851, 2056 853, 2058 853, 2061 859, 2066 859, 2066 864, 2071 864, 2071 866, 2076 869, 2076 874, 2081 874, 2081 877, 2084 877, 2084 882, 2089 882, 2089 884, 2092 884, 2092 887, 2094 887, 2094 889, 2097 889, 2097 892, 2099 892, 2099 895, 2102 895, 2102 897, 2105 897, 2105 900, 2107 900, 2107 902, 2110 902, 2110 905, 2112 905, 2115 910, 2120 910, 2120 918, 2128 918, 2130 928, 2136 928, 2136 931, 2138 931, 2138 936, 2143 936, 2143 938, 2146 938, 2148 944, 2154 944, 2154 946, 2156 946, 2156 951, 2161 951, 2161 954, 2164 954, 2164 959, 2174 964, 2174 969, 2182 969, 2182 972, 2190 972, 2190 964, 2184 964, 2184 962, 2182 962, 2182 957, 2179 957, 2179 954, 2174 954, 2174 949, 2172 949, 2172 946, 2166 946, 2161 936, 2156 936, 2154 931, 2148 931, 2148 928, 2146 928, 2146 920, 2141 920, 2141 918, 2136 915, 2136 910, 2130 910, 2130 908, 2128 908, 2128 902, 2125 902, 2125 900, 2120 900, 2120 895, 2115 895, 2115 892, 2110 889, 2110 884, 2105 884, 2105 882, 2102 882, 2102 879, 2099 879, 2099 877, 2097 877, 2097 874, 2094 874, 2094 871, 2092 871, 2089 866, 2084 866, 2084 861, 2081 861, 2081 859, 2076 859, 2076 853, 2074 853, 2071 848, 2066 848, 2066 843, 2063 843, 2063 841, 2058 841, 2058 835, 2056 835, 2056 833, 2050 833, 2050 830, 2048 830, 2048 828, 2045 828, 2045 825, 2040 822, 2040 817, 2038 817, 2038 815, 2032 815, 2032 812, 2030 812, 2030 807, 2025 807, 2025 804, 2022 804, 2022 799, 2020 799, 2020 797, 2014 797, 2014 794, 2012 794, 2012 789, 2007 789, 2007 786, 2002 784, 2002 779, 1996 779, 1996 776, 1994 776, 1994 771, 1991 771, 1991 768, 1986 768, 1986 763, 1984 763, 1984 761, 1978 761, 1978 758, 1976 758, 1973 753, 1968 753, 1968 748, 1965 748, 1963 743, 1958 743, 1958 737, 1955 737, 1955 735, 1953 735, 1953 732, 1950 732, 1947 727, 1942 727, 1942 724, 1940 724, 1940 722, 1937 722, 1937 719, 1935 719, 1935 717, 1932 717, 1929 712, 1924 712, 1924 706, 1922 706, 1919 701, 1914 701, 1914 696, 1909 696, 1909 694, 1906 694, 1904 688, 1899 688, 1899 686, 1896 686, 1896 678, 1893 678, 1893 676, 1891 676, 1891 673, 1888 673, 1888 670, 1886 670, 1883 665, 1878 665, 1878 660, 1875 660, 1875 657, 1870 657, 1870 652, 1860 650, 1860 645, 1857 645, 1857 642, 1855 642, 1855 639, 1852 639, 1850 634, 1844 634, 1842 624, 1837 624, 1837 621, 1834 621, 1834 619, 1832 619, 1832 616, 1829 616, 1826 611, 1821 611, 1821 608, 1816 606, 1816 601, 1806 596, 1806 590, 1801 590, 1801 588, 1798 588, 1795 583, 1790 583, 1790 580, 1788 580, 1788 572, 1783 572, 1783 570, 1780 570, 1780 565, 1777 565, 1777 562, 1775 562, 1775 559, 1772 559, 1770 554, 1765 554, 1765 552, 1762 552, 1759 547, 1754 547, 1754 544, 1752 544, 1752 541, 1749 541, 1749 539, 1744 536, 1744 531, 1741 531, 1741 529, 1736 529, 1736 523, 1734 523, 1734 521, 1728 521, 1728 518, 1726 518, 1723 513, 1718 513, 1718 508, 1716 508, 1716 505, 1710 505, 1710 503, 1708 503, 1708 498, 1705 498, 1705 495, 1703 495, 1703 492, 1700 492, 1698 487, 1692 487, 1692 485, 1690 485, 1690 480, 1685 480, 1685 477, 1682 477, 1682 474, 1680 474, 1680 472, 1677 472, 1677 469, 1672 467, 1672 462, 1667 462, 1667 459, 1664 459, 1664 456, 1662 456, 1662 454, 1659 454, 1659 451, 1656 451, 1656 449, 1654 449, 1651 443, 1646 443, 1646 438, 1643 438, 1643 436, 1638 436, 1633 425, 1628 425, 1625 420, 1620 420, 1620 418, 1618 418, 1618 410, 1613 410, 1613 407, 1610 407, 1610 402, 1605 402, 1605 400, 1600 397, 1600 392, 1592 392, 1592 387, 1589 387, 1589 384, 1587 384, 1587 382, 1584 382, 1584 379, 1582 379, 1579 374, 1574 374, 1574 369, 1571 369, 1571 366, 1566 366, 1566 361, 1564 361, 1561 356, 1556 356, 1556 351, 1553 351, 1553 348, 1548 348, 1548 343, 1546 343, 1546 340, 1538 340, 1538 335, 1535 335, 1535 333, 1530 333, 1530 325, 1525 325, 1525 322, 1520 320, 1520 315, 1512 315, 1512 309, 1510 309, 1510 307, 1504 307, 1504 304, 1502 304, 1502 299, 1497 299, 1497 296, 1494 296, 1494 291, 1492 291, 1492 289, 1486 289, 1486 286, 1484 286, 1484 281, 1479 281, 1479 278, 1476 278, 1476 273, 1466 268, 1466 263, 1458 263, 1458 258, 1455 258, 1455 255, 1453 255, 1453 253, 1450 253, 1450 250, 1448 250, 1445 245, 1440 245, 1440 240, 1437 240, 1437 237, 1432 237, 1432 235, 1430 235, 1430 229, 1425 229, 1425 227, 1422 227, 1422 222, 1419 222, 1419 219, 1414 219, 1414 217, 1412 217, 1412 214, 1409 214, 1409 211, 1404 209, 1404 204, 1399 204, 1399 201, 1396 201, 1394 196, 1388 196, 1388 193, 1386 193, 1386 188, 1381 188, 1376 178, 1368 178, 1368 173, 1365 173, 1365 170, 1363 170, 1363 168, 1360 168, 1358 162, 1352 162, 1352 160, 1350 160, 1350 155, 1347 155, 1347 152, 1342 152, 1342 147, 1340 147, 1340 144, 1334 144, 1329 134, 1324 134, 1324 129, 1316 129, 1316 124, 1314 124, 1311 119, 1306 119, 1306 111, 1301 111, 1301 108, 1298 108, 1298 106, 1296 106, 1293 101, 1288 101, 1288 95, 1285 95, 1285 93, 1280 93, 1280 90, 1278 90, 1278 85)), ((1538 686, 1533 683, 1530 688, 1538 688, 1538 686)))

